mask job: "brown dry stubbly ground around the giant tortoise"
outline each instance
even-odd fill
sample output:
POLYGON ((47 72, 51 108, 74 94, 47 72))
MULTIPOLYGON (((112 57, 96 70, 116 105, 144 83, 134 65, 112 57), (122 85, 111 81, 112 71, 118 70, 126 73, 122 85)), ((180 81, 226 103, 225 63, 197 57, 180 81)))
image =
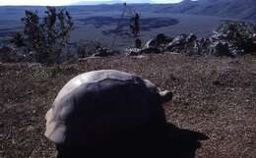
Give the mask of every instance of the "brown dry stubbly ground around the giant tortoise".
POLYGON ((149 55, 85 59, 76 64, 0 64, 0 157, 53 158, 44 115, 60 88, 80 73, 116 69, 173 91, 168 121, 209 139, 197 158, 256 157, 256 57, 149 55))

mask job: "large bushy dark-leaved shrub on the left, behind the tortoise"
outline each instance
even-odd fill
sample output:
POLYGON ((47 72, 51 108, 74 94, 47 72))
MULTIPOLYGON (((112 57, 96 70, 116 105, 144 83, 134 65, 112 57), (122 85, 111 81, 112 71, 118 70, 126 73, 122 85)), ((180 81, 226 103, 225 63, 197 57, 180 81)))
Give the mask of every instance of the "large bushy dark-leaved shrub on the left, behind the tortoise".
POLYGON ((40 19, 37 12, 26 11, 22 18, 24 31, 17 32, 12 42, 17 47, 33 51, 34 61, 38 63, 59 63, 61 55, 68 46, 74 23, 69 12, 46 7, 45 17, 40 19))

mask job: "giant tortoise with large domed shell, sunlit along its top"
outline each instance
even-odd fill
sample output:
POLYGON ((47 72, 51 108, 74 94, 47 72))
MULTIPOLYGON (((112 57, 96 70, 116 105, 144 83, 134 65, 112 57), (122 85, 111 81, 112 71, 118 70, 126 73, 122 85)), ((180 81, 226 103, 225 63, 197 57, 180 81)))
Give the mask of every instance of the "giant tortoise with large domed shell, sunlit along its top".
POLYGON ((45 136, 59 152, 64 148, 60 146, 108 146, 116 139, 139 142, 164 131, 161 104, 171 98, 170 91, 160 91, 136 75, 115 70, 85 73, 59 91, 45 116, 45 136))

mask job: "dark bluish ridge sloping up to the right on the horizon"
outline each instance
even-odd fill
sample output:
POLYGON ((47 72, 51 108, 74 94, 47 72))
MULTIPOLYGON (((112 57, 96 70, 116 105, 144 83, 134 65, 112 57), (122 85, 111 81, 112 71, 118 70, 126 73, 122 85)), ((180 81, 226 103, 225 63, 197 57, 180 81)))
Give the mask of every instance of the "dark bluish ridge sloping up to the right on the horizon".
POLYGON ((256 21, 256 0, 184 0, 177 4, 162 5, 162 8, 156 10, 156 12, 207 15, 256 21))

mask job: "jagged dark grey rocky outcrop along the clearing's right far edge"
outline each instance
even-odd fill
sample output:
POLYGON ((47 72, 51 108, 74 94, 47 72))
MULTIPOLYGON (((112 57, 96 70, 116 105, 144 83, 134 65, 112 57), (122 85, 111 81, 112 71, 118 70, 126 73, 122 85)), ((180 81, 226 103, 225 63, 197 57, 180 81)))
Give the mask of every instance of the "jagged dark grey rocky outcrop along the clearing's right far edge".
POLYGON ((129 55, 175 52, 186 55, 214 55, 235 57, 256 52, 256 25, 225 22, 208 38, 197 38, 193 33, 182 33, 174 38, 159 34, 142 49, 129 55))

